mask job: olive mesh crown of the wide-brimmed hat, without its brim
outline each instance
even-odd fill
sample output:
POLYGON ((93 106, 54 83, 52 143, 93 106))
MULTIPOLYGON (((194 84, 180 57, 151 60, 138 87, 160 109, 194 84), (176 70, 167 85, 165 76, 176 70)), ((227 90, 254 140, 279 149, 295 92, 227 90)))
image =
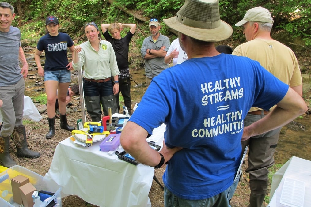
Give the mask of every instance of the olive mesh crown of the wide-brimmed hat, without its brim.
POLYGON ((176 18, 180 23, 191 27, 215 29, 220 26, 218 1, 211 4, 188 2, 187 8, 180 8, 176 18), (207 12, 202 12, 202 8, 207 12))

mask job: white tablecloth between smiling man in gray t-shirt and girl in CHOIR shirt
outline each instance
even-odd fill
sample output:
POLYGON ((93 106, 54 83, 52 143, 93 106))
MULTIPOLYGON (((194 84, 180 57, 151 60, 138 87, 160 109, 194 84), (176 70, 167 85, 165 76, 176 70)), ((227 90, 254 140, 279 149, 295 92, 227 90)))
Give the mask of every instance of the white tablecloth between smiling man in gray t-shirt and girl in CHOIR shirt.
MULTIPOLYGON (((38 109, 35 104, 32 102, 29 96, 24 96, 24 118, 32 119, 35 122, 39 122, 42 119, 38 109)), ((2 114, 0 110, 0 123, 2 123, 2 114)))

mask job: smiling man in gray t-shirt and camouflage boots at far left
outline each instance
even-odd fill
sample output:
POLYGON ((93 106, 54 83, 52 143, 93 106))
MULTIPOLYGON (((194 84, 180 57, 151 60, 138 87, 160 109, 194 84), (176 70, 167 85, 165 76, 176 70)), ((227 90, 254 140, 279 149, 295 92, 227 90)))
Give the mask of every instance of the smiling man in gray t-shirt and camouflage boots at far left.
POLYGON ((0 127, 0 161, 10 168, 16 163, 10 157, 10 138, 17 148, 17 157, 37 158, 39 152, 28 149, 26 129, 23 126, 24 78, 28 74, 28 63, 21 48, 21 32, 11 26, 14 8, 7 2, 0 2, 0 108, 3 123, 0 127), (19 67, 19 60, 23 67, 19 67))

